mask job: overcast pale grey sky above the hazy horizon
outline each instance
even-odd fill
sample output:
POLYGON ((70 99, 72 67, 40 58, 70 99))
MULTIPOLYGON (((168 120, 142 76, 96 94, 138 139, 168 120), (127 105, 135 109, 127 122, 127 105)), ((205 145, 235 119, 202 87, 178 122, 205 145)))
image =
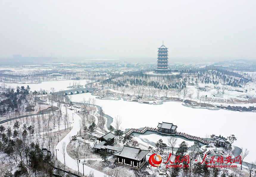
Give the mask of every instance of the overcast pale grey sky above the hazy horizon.
POLYGON ((256 59, 256 1, 11 1, 0 58, 256 59))

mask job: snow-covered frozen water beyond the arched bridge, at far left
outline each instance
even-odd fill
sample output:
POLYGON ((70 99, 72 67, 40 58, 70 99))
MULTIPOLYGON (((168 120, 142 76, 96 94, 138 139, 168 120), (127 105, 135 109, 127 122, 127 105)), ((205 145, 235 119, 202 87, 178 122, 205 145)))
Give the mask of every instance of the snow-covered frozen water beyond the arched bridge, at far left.
MULTIPOLYGON (((55 89, 55 92, 57 91, 60 91, 60 90, 68 90, 70 88, 67 88, 69 86, 69 83, 71 83, 71 86, 73 85, 73 82, 80 82, 80 85, 83 85, 85 86, 85 84, 88 84, 90 82, 92 82, 91 80, 63 80, 63 81, 45 81, 45 82, 42 82, 40 84, 15 84, 15 83, 5 83, 7 85, 7 88, 10 86, 11 88, 16 88, 17 85, 19 87, 21 86, 24 86, 24 87, 27 87, 27 85, 29 85, 29 87, 31 88, 30 90, 31 91, 34 91, 34 90, 40 90, 40 88, 46 90, 46 91, 49 91, 51 89, 51 87, 54 87, 55 89)), ((0 86, 3 82, 0 82, 0 86)))

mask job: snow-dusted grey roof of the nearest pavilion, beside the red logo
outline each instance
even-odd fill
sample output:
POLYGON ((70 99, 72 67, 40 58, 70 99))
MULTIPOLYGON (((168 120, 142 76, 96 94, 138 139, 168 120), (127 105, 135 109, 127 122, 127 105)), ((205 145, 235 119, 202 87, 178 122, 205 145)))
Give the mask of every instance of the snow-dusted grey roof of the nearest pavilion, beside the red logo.
POLYGON ((141 150, 140 148, 124 145, 121 151, 115 152, 113 154, 120 157, 141 161, 143 157, 147 155, 147 153, 149 153, 149 150, 141 150))

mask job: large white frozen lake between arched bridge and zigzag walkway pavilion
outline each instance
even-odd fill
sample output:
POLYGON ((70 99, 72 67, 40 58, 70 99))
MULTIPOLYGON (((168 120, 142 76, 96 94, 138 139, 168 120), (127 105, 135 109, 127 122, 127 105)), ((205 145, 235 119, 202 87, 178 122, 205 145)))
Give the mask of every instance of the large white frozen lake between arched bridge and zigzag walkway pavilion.
MULTIPOLYGON (((96 98, 90 93, 72 95, 72 101, 83 98, 96 98)), ((177 125, 177 131, 205 138, 205 135, 221 135, 227 138, 230 134, 237 137, 232 145, 249 149, 246 162, 256 159, 255 117, 254 112, 229 110, 208 110, 183 106, 182 103, 168 101, 161 105, 149 105, 124 100, 99 100, 96 105, 102 106, 105 114, 115 118, 122 117, 121 127, 140 128, 157 127, 158 122, 170 122, 177 125)), ((114 124, 112 123, 112 126, 114 124)))

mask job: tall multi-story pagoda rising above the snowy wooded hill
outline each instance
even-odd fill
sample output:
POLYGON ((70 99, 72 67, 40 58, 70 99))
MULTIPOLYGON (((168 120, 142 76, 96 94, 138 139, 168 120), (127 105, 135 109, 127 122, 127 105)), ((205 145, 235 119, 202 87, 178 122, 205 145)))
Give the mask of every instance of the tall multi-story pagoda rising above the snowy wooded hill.
POLYGON ((157 54, 157 68, 155 69, 156 73, 171 73, 171 69, 168 67, 168 48, 164 44, 158 48, 157 54))

